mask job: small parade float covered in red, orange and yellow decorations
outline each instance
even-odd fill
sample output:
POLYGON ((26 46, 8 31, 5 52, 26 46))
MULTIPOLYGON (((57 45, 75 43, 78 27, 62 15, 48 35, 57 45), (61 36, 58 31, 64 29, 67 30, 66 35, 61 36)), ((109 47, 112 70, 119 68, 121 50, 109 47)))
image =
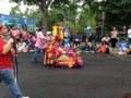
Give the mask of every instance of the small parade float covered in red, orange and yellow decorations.
POLYGON ((48 66, 81 68, 83 59, 74 49, 64 49, 59 41, 49 42, 45 51, 45 62, 48 66))

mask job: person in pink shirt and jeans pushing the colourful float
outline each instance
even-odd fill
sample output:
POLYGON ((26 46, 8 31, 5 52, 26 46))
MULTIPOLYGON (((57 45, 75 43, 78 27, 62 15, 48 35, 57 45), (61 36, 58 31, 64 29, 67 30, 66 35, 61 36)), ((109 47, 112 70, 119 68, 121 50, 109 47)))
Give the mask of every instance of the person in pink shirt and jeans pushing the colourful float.
POLYGON ((46 28, 44 27, 40 27, 38 29, 38 33, 37 33, 37 38, 36 38, 36 44, 35 44, 35 51, 34 51, 34 54, 32 57, 32 62, 33 63, 37 63, 38 62, 38 57, 41 52, 41 50, 44 51, 44 48, 45 48, 45 45, 46 45, 46 41, 48 40, 48 37, 46 35, 46 28))

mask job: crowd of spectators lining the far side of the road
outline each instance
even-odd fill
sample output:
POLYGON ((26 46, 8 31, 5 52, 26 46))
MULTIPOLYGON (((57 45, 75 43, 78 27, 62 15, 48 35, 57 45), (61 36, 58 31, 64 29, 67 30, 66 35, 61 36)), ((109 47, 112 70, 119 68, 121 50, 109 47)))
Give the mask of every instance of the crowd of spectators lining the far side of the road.
MULTIPOLYGON (((33 52, 37 41, 37 33, 27 30, 26 25, 23 25, 22 29, 16 26, 12 27, 11 35, 15 37, 17 52, 33 52)), ((82 35, 76 29, 71 33, 69 22, 63 19, 59 25, 57 23, 52 25, 49 36, 58 37, 66 49, 73 48, 93 53, 131 54, 131 26, 129 28, 123 26, 120 32, 112 27, 110 34, 102 35, 102 25, 98 22, 95 37, 93 37, 92 24, 87 21, 84 33, 86 38, 83 41, 82 35)))

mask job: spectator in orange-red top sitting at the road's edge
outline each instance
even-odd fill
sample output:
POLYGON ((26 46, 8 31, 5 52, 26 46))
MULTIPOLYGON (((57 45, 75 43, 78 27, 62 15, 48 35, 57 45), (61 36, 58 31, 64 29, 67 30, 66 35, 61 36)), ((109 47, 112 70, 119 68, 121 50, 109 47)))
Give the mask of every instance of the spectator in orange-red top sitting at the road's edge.
POLYGON ((102 45, 96 49, 96 52, 109 53, 109 48, 106 41, 102 41, 102 45))

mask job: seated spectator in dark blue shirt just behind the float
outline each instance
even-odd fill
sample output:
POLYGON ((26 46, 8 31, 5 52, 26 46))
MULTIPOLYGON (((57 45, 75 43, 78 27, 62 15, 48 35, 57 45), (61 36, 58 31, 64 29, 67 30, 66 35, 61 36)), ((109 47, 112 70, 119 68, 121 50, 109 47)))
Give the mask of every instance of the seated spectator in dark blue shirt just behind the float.
POLYGON ((73 35, 73 48, 79 49, 81 41, 82 41, 82 36, 79 35, 79 33, 75 30, 75 34, 73 35))

